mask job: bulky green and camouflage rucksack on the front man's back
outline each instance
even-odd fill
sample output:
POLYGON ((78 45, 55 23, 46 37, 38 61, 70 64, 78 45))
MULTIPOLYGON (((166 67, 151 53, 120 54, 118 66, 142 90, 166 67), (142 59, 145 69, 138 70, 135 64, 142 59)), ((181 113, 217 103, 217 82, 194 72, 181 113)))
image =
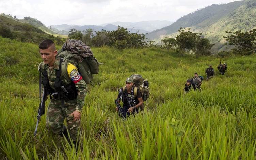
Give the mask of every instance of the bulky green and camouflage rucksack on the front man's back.
POLYGON ((86 84, 89 84, 93 78, 92 74, 99 73, 99 63, 89 46, 80 40, 68 39, 62 48, 58 51, 57 56, 63 58, 65 63, 61 66, 63 76, 69 80, 67 73, 67 64, 76 65, 78 72, 81 74, 86 84))

